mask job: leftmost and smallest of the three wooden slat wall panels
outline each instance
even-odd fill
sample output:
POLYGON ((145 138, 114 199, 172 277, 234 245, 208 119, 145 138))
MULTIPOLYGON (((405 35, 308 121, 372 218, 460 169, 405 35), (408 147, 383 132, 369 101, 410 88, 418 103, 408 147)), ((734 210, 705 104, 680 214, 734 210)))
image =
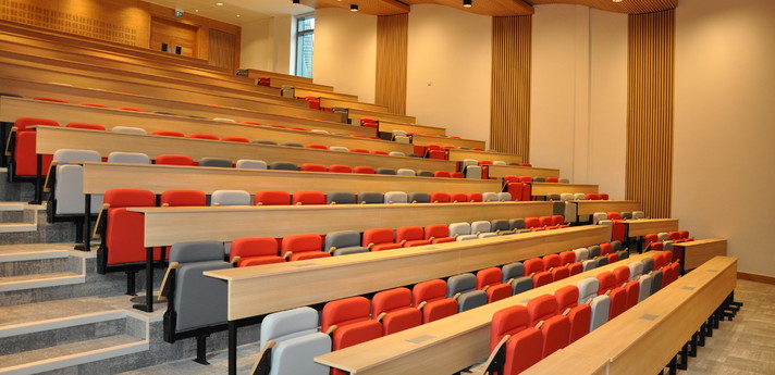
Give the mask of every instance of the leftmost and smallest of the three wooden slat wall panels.
POLYGON ((377 17, 376 103, 406 114, 409 13, 377 17))

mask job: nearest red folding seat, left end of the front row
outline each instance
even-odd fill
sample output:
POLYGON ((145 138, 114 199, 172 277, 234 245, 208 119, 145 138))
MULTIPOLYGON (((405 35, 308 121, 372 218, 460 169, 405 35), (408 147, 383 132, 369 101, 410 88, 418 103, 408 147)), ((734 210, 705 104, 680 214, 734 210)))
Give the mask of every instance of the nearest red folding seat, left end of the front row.
POLYGON ((503 352, 504 360, 502 366, 499 366, 502 368, 488 367, 491 374, 519 374, 541 361, 543 335, 529 324, 529 320, 527 309, 522 305, 509 307, 493 314, 490 351, 503 352), (503 342, 505 337, 508 338, 503 342))

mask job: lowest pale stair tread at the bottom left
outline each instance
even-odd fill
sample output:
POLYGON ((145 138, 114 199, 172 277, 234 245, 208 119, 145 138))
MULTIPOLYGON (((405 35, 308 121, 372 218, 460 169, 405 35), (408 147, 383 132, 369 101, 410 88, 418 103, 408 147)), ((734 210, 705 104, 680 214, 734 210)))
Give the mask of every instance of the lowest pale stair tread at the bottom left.
POLYGON ((56 361, 58 358, 61 359, 71 355, 86 355, 91 354, 89 352, 93 351, 104 351, 114 347, 142 342, 145 342, 145 340, 138 339, 130 335, 115 335, 93 340, 71 342, 44 349, 36 349, 21 353, 2 355, 0 357, 0 363, 3 364, 3 367, 0 367, 0 373, 2 373, 3 370, 12 366, 25 364, 33 365, 35 364, 35 362, 38 361, 56 361))

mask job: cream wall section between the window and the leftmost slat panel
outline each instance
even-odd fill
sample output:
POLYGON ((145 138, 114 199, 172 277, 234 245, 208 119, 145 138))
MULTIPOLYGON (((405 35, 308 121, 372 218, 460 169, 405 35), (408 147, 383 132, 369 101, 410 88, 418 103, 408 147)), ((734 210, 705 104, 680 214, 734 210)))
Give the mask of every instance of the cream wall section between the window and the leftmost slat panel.
POLYGON ((377 80, 377 16, 324 8, 315 12, 312 78, 337 92, 373 103, 377 80))

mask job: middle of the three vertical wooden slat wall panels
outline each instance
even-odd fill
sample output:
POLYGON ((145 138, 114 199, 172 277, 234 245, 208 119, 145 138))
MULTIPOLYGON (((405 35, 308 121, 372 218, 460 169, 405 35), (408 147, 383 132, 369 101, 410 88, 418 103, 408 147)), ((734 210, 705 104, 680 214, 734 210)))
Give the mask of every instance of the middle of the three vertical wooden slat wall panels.
POLYGON ((492 18, 490 148, 530 160, 532 16, 492 18))

